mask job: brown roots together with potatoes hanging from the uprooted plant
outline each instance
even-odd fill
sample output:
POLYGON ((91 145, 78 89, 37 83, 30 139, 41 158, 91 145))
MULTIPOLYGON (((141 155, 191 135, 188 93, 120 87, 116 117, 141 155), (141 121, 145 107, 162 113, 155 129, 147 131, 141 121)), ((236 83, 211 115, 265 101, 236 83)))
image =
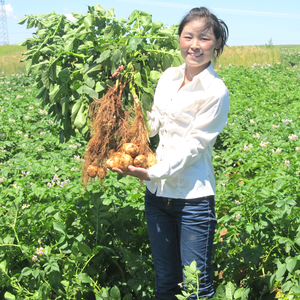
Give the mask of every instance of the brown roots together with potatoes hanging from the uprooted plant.
POLYGON ((130 165, 148 168, 156 164, 156 157, 149 147, 141 104, 133 90, 134 108, 124 110, 122 106, 125 84, 118 80, 103 98, 95 100, 90 107, 92 138, 85 151, 84 184, 89 178, 104 179, 106 168, 127 171, 130 165))

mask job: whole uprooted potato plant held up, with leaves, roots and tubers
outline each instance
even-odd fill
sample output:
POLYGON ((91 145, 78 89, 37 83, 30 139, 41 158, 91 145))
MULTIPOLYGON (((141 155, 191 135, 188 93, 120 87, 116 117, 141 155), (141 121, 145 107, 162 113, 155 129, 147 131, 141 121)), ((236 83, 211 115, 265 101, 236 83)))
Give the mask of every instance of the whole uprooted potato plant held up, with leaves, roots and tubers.
POLYGON ((113 9, 100 5, 73 17, 75 22, 52 11, 19 21, 36 28, 22 45, 28 49, 23 59, 28 61, 27 74, 36 74, 37 98, 60 123, 60 142, 76 130, 89 141, 85 184, 88 174, 105 177, 112 160, 124 170, 131 159, 148 167, 155 158, 146 110, 151 109, 161 73, 182 63, 177 26, 152 22, 151 14, 138 10, 128 20, 117 20, 113 9), (139 149, 131 158, 124 148, 128 143, 139 149))

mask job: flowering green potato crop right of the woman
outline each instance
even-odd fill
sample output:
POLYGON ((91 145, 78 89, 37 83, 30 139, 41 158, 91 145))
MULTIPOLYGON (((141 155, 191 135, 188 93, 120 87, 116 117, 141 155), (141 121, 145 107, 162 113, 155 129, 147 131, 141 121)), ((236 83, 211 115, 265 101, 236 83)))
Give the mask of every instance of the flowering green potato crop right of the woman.
POLYGON ((214 149, 215 275, 250 288, 249 299, 299 295, 299 69, 283 57, 219 72, 231 108, 214 149))

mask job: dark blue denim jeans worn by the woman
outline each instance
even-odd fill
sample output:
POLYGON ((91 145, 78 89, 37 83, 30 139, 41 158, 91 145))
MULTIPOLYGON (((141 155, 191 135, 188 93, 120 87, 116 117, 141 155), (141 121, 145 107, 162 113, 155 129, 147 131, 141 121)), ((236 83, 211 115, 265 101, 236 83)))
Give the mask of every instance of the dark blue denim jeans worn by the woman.
POLYGON ((201 271, 199 298, 211 298, 214 196, 171 199, 157 197, 147 189, 145 211, 155 270, 155 299, 177 300, 175 295, 181 293, 178 284, 184 281, 183 268, 194 260, 201 271))

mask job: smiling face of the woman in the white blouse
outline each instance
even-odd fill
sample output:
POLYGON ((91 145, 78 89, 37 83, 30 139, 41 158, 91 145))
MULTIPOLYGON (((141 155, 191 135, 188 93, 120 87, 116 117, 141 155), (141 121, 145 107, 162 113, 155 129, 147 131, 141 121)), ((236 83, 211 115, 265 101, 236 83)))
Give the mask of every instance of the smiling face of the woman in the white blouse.
POLYGON ((205 70, 213 57, 214 50, 221 45, 221 38, 216 39, 213 29, 204 31, 205 21, 194 19, 187 23, 179 38, 181 56, 190 75, 197 75, 205 70))

